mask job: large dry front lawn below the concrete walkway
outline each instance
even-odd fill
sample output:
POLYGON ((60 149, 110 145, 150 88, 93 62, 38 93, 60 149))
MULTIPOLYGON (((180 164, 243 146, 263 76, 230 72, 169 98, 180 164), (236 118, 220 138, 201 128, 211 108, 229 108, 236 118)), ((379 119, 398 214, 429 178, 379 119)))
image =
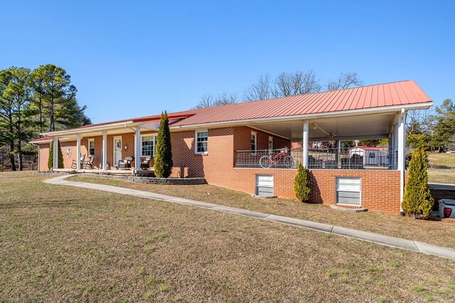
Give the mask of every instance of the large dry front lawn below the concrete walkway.
POLYGON ((0 174, 0 302, 455 299, 453 260, 45 178, 0 174))

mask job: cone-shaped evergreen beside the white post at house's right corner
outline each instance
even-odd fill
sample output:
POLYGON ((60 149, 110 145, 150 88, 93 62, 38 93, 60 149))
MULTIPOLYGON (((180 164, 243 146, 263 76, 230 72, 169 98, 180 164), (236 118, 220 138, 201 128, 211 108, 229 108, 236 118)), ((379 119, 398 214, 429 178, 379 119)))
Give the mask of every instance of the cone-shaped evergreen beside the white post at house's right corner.
POLYGON ((433 205, 428 188, 427 154, 420 147, 412 152, 402 208, 414 219, 426 219, 432 213, 433 205))

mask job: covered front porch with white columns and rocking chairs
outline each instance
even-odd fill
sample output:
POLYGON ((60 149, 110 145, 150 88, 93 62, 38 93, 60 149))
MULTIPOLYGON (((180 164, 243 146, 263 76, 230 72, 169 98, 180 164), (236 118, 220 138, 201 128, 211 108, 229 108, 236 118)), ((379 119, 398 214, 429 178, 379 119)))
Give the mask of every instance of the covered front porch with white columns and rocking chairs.
POLYGON ((153 176, 159 121, 117 122, 52 132, 53 171, 153 176), (57 169, 58 142, 63 169, 57 169))

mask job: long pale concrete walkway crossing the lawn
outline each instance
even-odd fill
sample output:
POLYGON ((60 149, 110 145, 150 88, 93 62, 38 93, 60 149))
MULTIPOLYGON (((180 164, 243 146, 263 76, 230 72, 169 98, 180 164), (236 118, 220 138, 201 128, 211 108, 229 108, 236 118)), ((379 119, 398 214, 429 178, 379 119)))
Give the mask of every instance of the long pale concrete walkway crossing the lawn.
POLYGON ((402 238, 390 237, 389 235, 380 235, 378 233, 368 233, 366 231, 355 230, 351 228, 343 228, 336 225, 328 225, 307 220, 288 218, 282 216, 274 216, 269 213, 259 213, 256 211, 247 211, 242 208, 233 208, 228 206, 220 206, 218 204, 205 203, 200 201, 188 200, 185 198, 176 198, 173 196, 161 195, 159 193, 151 193, 148 191, 137 191, 131 188, 123 188, 117 186, 109 186, 102 184, 92 184, 85 182, 67 181, 65 180, 71 175, 58 176, 53 179, 47 179, 44 182, 47 184, 76 186, 81 188, 95 189, 97 191, 108 191, 110 193, 119 193, 122 195, 137 196, 142 198, 151 198, 154 200, 167 201, 171 203, 196 206, 200 208, 210 209, 212 211, 222 211, 224 213, 233 213, 262 220, 268 220, 287 225, 293 225, 299 228, 307 228, 310 230, 321 231, 323 233, 332 233, 343 237, 353 238, 357 240, 368 241, 379 245, 386 245, 392 248, 400 248, 403 250, 412 250, 414 252, 422 252, 428 255, 437 255, 438 257, 446 257, 455 260, 455 250, 451 248, 443 248, 437 245, 407 240, 402 238))

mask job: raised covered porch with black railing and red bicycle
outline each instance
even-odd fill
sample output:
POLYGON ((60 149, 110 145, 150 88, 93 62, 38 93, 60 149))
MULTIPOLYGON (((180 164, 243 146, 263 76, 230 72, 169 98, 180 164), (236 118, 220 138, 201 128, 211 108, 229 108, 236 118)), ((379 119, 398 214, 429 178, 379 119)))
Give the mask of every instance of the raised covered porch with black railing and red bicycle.
POLYGON ((302 163, 308 169, 405 170, 404 109, 333 116, 255 123, 257 129, 288 139, 291 148, 272 145, 264 150, 236 150, 234 166, 296 169, 302 163), (363 139, 388 139, 388 145, 362 147, 353 143, 363 139), (261 164, 265 157, 272 165, 261 164))

